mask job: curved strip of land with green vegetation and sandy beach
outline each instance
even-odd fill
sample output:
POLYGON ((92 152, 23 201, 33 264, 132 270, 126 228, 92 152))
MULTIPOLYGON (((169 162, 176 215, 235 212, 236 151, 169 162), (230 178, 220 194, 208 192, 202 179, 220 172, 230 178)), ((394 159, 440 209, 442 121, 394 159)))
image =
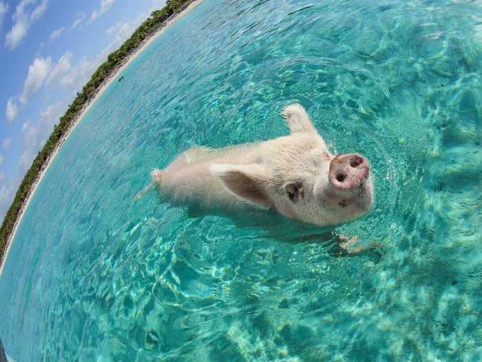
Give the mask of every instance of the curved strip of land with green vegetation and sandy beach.
POLYGON ((80 94, 77 93, 77 97, 74 99, 72 105, 77 104, 74 107, 70 105, 67 112, 61 117, 59 125, 55 125, 52 134, 48 137, 47 143, 39 151, 39 155, 34 159, 32 166, 30 166, 25 177, 23 177, 19 189, 12 200, 12 204, 3 217, 0 226, 0 274, 3 270, 3 263, 7 257, 10 243, 21 222, 23 212, 28 208, 36 186, 41 182, 43 175, 47 172, 50 163, 53 161, 56 153, 59 152, 59 149, 70 132, 74 130, 83 115, 88 112, 98 97, 101 97, 102 92, 114 81, 116 76, 120 74, 140 52, 147 48, 151 41, 200 2, 202 2, 202 0, 185 0, 175 2, 175 5, 169 5, 169 1, 167 1, 165 8, 152 12, 147 20, 134 30, 133 35, 129 37, 118 50, 112 52, 109 57, 107 57, 108 59, 105 63, 99 66, 93 73, 90 81, 83 87, 82 92, 80 94), (193 6, 190 6, 191 3, 193 6), (149 21, 151 23, 149 23, 149 21), (147 31, 144 30, 144 28, 146 28, 147 31), (133 43, 132 38, 136 36, 137 33, 141 34, 141 38, 136 39, 133 43), (127 52, 123 50, 124 48, 127 48, 127 52), (123 54, 119 54, 120 56, 117 55, 121 50, 123 54), (105 72, 103 68, 107 69, 107 72, 105 72), (96 76, 96 74, 99 73, 105 73, 101 75, 100 80, 98 80, 99 77, 96 76), (90 86, 90 83, 94 84, 90 86), (63 121, 63 119, 66 118, 69 120, 67 122, 63 121))

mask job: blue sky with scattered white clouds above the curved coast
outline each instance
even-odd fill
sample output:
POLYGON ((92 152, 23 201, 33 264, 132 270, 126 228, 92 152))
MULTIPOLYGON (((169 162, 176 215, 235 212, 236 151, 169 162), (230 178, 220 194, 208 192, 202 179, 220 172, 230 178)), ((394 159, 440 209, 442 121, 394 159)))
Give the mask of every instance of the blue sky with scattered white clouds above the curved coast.
POLYGON ((76 92, 165 0, 0 0, 0 219, 76 92))

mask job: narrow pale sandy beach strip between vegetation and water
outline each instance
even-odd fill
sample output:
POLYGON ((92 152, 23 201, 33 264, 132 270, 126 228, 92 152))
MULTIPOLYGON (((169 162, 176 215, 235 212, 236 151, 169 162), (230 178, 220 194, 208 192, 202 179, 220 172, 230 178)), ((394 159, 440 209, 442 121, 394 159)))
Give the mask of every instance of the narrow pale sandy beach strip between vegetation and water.
POLYGON ((61 149, 63 143, 65 143, 65 141, 69 138, 70 134, 76 128, 78 123, 81 122, 81 120, 85 116, 85 114, 87 112, 89 112, 92 105, 94 105, 94 103, 98 100, 98 98, 101 97, 103 92, 110 86, 110 84, 118 78, 118 75, 121 74, 121 72, 123 72, 123 70, 125 70, 125 68, 127 68, 127 66, 129 66, 129 64, 132 63, 132 61, 134 61, 134 59, 136 59, 136 57, 141 52, 143 52, 143 50, 145 50, 145 48, 147 48, 154 40, 156 40, 161 34, 163 34, 174 23, 176 23, 176 21, 178 21, 179 19, 184 17, 185 14, 187 14, 188 12, 190 12, 191 10, 196 8, 196 6, 198 6, 200 3, 202 3, 202 1, 203 0, 194 0, 193 2, 191 2, 184 10, 182 10, 178 14, 175 14, 172 17, 169 17, 169 19, 167 19, 165 21, 165 23, 163 23, 163 25, 161 25, 158 28, 158 30, 153 32, 147 39, 145 39, 142 43, 140 43, 138 48, 136 49, 136 51, 133 52, 132 54, 130 54, 129 57, 127 57, 127 59, 125 60, 125 62, 123 62, 123 64, 120 67, 118 67, 116 70, 114 70, 114 72, 112 72, 112 74, 110 74, 109 77, 107 77, 107 79, 105 79, 105 81, 98 88, 98 91, 96 92, 95 96, 90 101, 88 101, 88 103, 85 105, 85 107, 80 112, 80 114, 78 114, 78 117, 76 117, 76 119, 74 121, 72 121, 72 125, 70 126, 70 128, 66 132, 66 134, 61 138, 58 145, 56 145, 56 148, 55 148, 54 152, 52 152, 52 154, 50 154, 50 157, 48 158, 47 163, 45 163, 45 167, 42 169, 41 174, 34 181, 34 186, 33 186, 32 190, 30 191, 30 194, 28 195, 27 200, 25 200, 25 202, 21 206, 20 216, 17 218, 17 221, 15 221, 14 229, 12 231, 12 234, 10 234, 10 236, 8 237, 5 252, 3 253, 2 259, 0 260, 0 275, 3 272, 3 265, 5 264, 5 261, 8 257, 8 252, 10 250, 10 246, 12 245, 12 240, 14 239, 15 234, 17 234, 17 229, 19 228, 19 225, 22 221, 23 214, 25 213, 25 210, 27 210, 28 205, 30 204, 30 200, 34 196, 36 189, 38 188, 39 184, 41 183, 45 173, 48 170, 48 168, 50 167, 50 165, 54 161, 56 155, 59 153, 59 150, 61 149))

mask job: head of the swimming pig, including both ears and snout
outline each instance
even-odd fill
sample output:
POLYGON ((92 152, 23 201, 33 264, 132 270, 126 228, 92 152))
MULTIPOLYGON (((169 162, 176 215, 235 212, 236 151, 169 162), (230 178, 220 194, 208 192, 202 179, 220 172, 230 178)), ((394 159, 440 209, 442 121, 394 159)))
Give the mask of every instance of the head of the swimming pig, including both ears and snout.
POLYGON ((262 143, 255 163, 213 165, 211 172, 238 198, 291 219, 324 226, 368 213, 373 204, 368 160, 328 152, 301 105, 289 105, 283 114, 288 137, 262 143))

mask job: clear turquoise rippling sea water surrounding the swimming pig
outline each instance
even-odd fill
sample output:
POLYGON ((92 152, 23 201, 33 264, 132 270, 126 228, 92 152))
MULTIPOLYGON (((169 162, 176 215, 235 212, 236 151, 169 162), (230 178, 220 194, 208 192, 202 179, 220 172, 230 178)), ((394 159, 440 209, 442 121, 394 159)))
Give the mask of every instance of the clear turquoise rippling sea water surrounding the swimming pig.
POLYGON ((7 352, 480 361, 481 42, 468 1, 206 0, 123 72, 45 175, 0 276, 7 352), (189 219, 154 192, 132 202, 190 145, 286 134, 291 101, 331 150, 373 164, 373 211, 336 232, 381 255, 189 219))

